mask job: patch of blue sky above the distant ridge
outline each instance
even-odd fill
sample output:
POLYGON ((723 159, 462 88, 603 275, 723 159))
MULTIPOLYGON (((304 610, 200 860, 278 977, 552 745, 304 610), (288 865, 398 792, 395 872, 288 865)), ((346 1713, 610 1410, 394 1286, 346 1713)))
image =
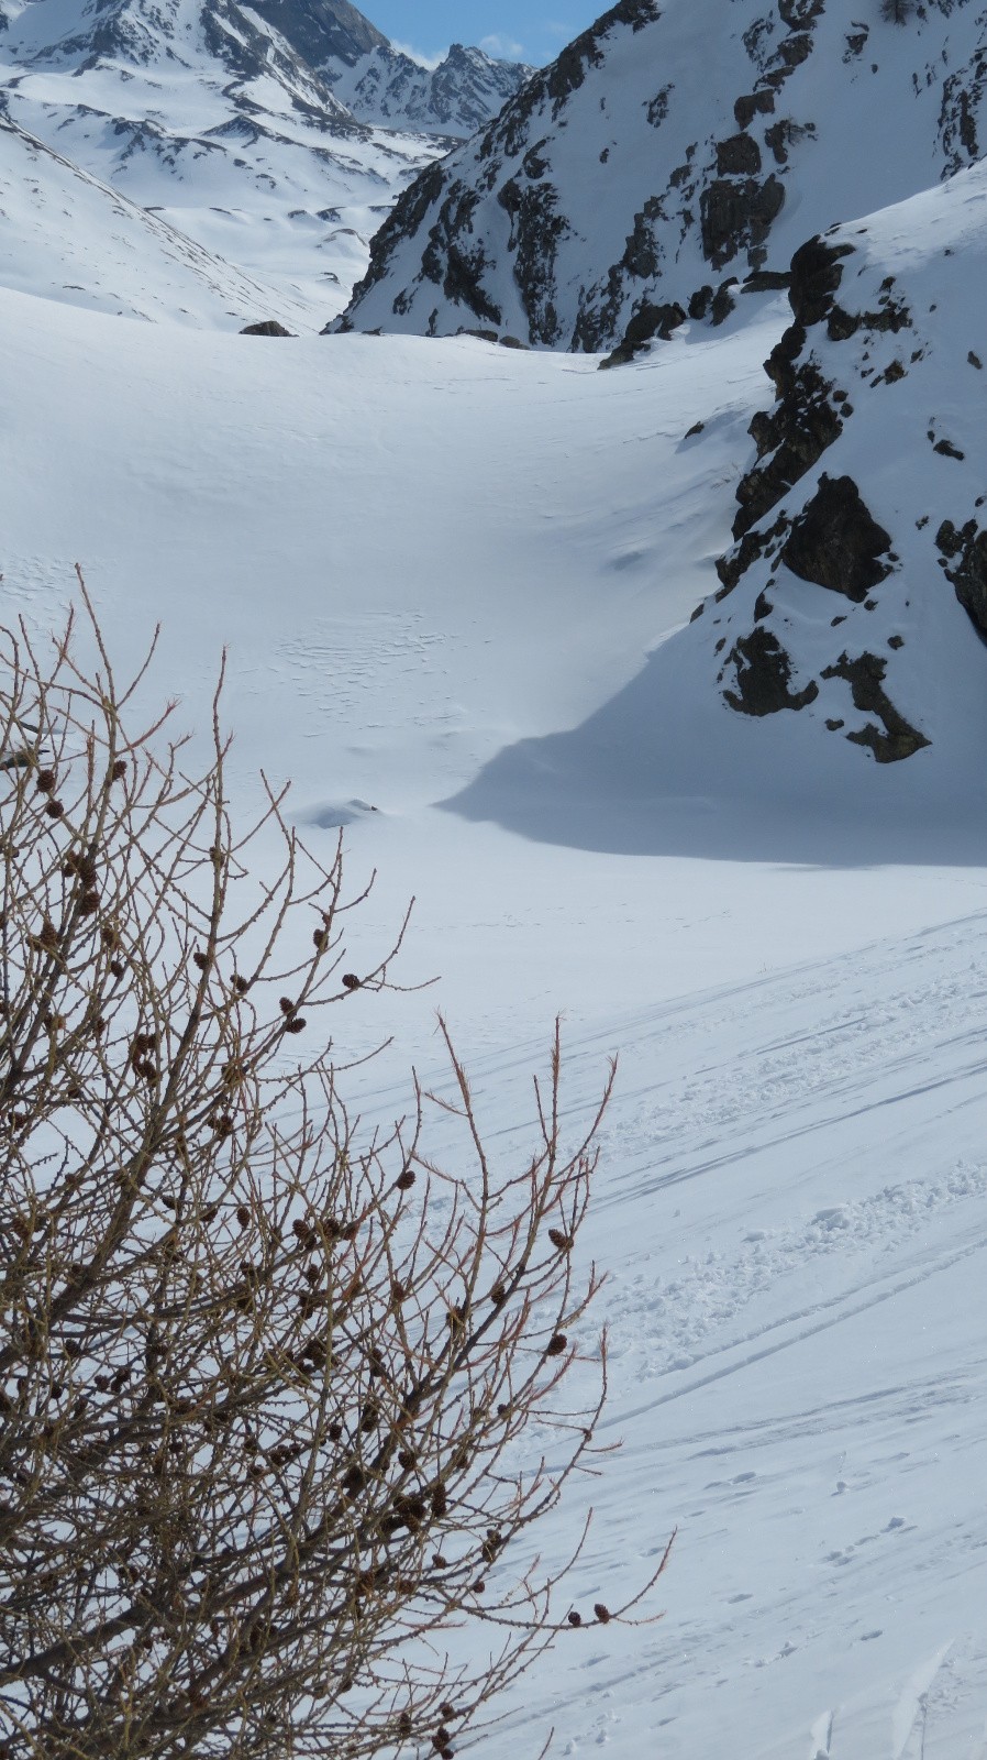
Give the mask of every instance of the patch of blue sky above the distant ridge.
POLYGON ((508 60, 551 62, 609 0, 355 0, 394 42, 435 56, 450 42, 479 42, 508 60))

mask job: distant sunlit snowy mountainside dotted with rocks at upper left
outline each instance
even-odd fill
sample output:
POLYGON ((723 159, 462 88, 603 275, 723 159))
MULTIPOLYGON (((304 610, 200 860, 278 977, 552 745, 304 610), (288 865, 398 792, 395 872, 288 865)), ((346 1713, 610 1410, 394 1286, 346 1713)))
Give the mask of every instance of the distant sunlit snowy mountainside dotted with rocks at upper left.
POLYGON ((287 37, 234 0, 5 7, 7 113, 274 285, 308 327, 343 306, 398 190, 447 146, 357 123, 287 37))

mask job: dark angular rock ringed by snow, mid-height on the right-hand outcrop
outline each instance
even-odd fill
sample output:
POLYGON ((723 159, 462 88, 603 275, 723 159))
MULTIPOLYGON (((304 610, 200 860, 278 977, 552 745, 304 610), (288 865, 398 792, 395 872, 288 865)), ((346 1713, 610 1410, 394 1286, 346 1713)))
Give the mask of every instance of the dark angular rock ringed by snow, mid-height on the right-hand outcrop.
POLYGON ((878 526, 853 477, 820 477, 820 486, 781 549, 781 561, 801 581, 815 581, 860 605, 871 588, 890 574, 881 561, 890 535, 878 526))

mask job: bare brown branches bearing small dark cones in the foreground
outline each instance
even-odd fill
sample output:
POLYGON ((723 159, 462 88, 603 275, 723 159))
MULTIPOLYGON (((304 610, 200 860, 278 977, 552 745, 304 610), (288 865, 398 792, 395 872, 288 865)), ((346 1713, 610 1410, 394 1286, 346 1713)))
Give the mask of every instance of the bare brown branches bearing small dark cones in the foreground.
POLYGON ((345 970, 340 850, 271 790, 234 831, 218 704, 195 778, 167 711, 127 730, 144 669, 114 681, 81 590, 95 671, 72 625, 53 658, 0 634, 0 1753, 449 1760, 575 1623, 524 1533, 605 1394, 603 1355, 591 1408, 561 1399, 612 1072, 563 1146, 556 1031, 498 1176, 443 1024, 454 1098, 357 1126, 320 1010, 389 987, 401 936, 345 970), (552 1466, 523 1470, 533 1420, 552 1466), (466 1616, 480 1668, 447 1660, 466 1616))

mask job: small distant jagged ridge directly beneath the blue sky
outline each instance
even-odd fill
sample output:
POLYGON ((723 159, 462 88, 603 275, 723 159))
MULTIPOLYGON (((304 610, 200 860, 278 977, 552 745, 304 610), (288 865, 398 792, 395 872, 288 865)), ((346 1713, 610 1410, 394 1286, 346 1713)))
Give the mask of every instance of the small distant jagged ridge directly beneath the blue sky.
POLYGON ((496 116, 535 72, 521 62, 494 62, 484 49, 454 42, 436 67, 422 67, 391 42, 352 67, 320 62, 338 99, 361 121, 470 136, 496 116))

